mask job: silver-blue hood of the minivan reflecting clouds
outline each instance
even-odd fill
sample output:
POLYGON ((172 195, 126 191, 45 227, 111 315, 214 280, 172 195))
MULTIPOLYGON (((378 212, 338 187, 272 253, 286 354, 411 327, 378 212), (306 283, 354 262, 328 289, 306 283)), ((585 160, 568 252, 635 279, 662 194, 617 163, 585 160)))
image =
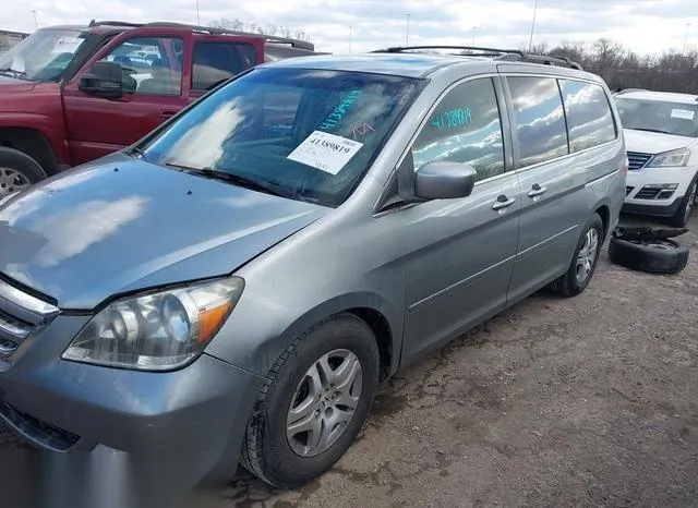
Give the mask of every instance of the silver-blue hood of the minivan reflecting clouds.
POLYGON ((62 309, 94 309, 229 274, 329 210, 117 154, 0 207, 0 273, 62 309))

